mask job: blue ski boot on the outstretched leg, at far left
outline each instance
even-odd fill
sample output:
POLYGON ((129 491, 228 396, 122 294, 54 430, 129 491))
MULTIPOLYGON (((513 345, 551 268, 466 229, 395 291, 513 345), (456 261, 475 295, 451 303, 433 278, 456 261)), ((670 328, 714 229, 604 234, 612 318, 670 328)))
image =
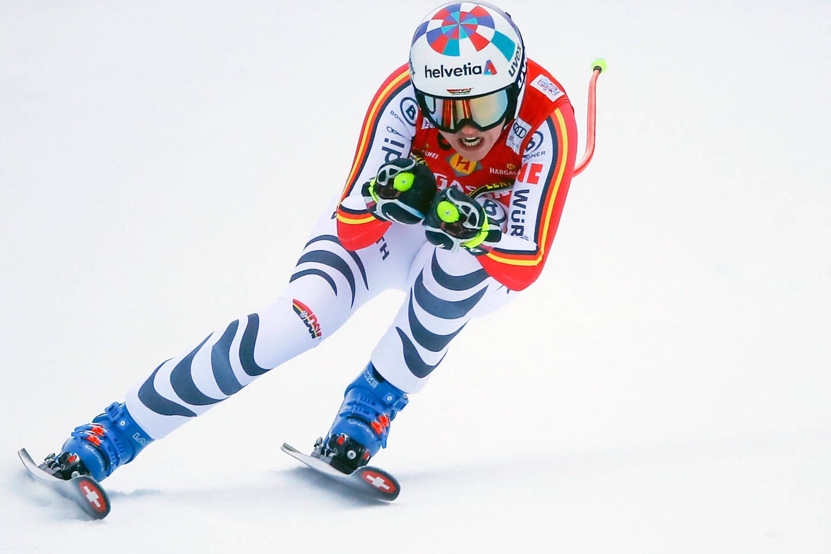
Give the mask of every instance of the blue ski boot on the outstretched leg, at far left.
POLYGON ((41 467, 61 479, 81 474, 101 481, 131 462, 151 442, 153 439, 135 423, 125 404, 114 402, 91 424, 76 427, 61 447, 61 454, 50 454, 41 467))

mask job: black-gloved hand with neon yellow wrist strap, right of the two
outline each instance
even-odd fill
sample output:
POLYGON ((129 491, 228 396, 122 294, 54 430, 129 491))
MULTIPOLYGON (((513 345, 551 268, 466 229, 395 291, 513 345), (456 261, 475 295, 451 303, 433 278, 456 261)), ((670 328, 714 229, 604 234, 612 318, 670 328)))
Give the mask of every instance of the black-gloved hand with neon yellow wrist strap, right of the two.
POLYGON ((435 195, 424 219, 427 240, 445 250, 465 248, 479 255, 499 242, 502 232, 489 223, 484 209, 455 187, 435 195))

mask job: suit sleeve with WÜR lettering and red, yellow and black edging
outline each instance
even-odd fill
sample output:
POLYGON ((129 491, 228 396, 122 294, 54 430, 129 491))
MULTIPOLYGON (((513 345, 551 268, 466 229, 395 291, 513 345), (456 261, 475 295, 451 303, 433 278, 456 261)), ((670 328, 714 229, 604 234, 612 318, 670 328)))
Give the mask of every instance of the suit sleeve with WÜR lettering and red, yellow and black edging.
MULTIPOLYGON (((508 231, 497 247, 479 256, 485 271, 521 291, 537 280, 557 233, 577 155, 577 125, 570 103, 562 103, 539 129, 553 141, 546 158, 524 159, 509 205, 508 231)), ((530 133, 529 133, 530 135, 530 133)))

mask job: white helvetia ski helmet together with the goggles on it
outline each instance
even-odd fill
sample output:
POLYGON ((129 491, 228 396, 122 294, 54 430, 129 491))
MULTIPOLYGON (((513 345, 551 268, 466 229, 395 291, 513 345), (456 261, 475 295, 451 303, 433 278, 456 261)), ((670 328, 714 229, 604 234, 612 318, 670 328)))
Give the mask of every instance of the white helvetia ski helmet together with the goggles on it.
POLYGON ((511 17, 486 2, 430 12, 410 47, 416 101, 431 124, 455 133, 514 120, 525 90, 525 47, 511 17))

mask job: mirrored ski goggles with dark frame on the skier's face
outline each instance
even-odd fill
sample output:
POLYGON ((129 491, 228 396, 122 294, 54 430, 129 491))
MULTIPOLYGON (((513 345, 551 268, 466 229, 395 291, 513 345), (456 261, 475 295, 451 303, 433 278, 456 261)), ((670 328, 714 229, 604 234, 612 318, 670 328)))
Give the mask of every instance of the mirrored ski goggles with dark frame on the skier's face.
POLYGON ((421 113, 439 130, 456 133, 465 125, 478 130, 493 129, 514 109, 514 86, 475 98, 442 98, 416 91, 421 113))

